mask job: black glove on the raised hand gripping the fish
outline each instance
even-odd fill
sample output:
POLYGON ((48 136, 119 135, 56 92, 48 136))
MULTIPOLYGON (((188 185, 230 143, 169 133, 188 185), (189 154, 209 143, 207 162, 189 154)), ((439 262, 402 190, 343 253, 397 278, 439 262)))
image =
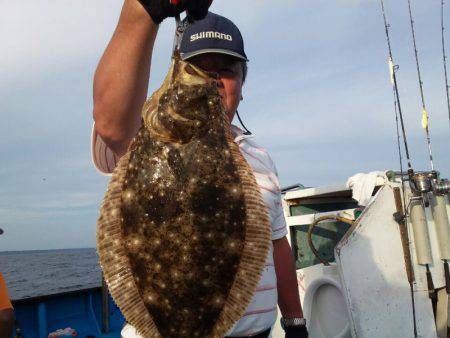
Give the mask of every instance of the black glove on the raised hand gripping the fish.
POLYGON ((201 20, 208 13, 212 0, 139 0, 153 22, 160 24, 165 18, 187 11, 189 21, 201 20))

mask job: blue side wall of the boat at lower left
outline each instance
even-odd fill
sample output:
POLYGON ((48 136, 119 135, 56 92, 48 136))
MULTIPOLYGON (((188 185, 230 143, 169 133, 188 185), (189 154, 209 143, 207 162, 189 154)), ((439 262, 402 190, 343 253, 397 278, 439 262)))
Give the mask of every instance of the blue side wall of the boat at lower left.
POLYGON ((125 319, 105 285, 13 300, 13 337, 117 338, 125 319))

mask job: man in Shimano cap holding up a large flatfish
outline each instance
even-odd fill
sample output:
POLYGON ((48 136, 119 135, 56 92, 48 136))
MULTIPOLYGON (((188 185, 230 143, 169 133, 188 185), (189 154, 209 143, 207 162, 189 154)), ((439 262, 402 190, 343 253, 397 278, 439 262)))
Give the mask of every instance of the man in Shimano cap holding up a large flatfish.
MULTIPOLYGON (((191 19, 199 20, 183 34, 181 57, 218 74, 219 94, 230 123, 242 100, 247 57, 239 29, 230 20, 213 13, 203 19, 208 0, 170 2, 125 0, 117 28, 100 60, 94 79, 92 150, 94 163, 102 172, 112 171, 141 126, 140 113, 147 96, 153 44, 158 24, 166 17, 187 10, 191 19)), ((307 337, 276 169, 267 152, 249 135, 236 126, 232 126, 232 131, 269 208, 273 248, 252 302, 227 336, 268 337, 277 317, 278 299, 286 337, 307 337)), ((131 325, 125 326, 122 336, 139 337, 131 325)))

